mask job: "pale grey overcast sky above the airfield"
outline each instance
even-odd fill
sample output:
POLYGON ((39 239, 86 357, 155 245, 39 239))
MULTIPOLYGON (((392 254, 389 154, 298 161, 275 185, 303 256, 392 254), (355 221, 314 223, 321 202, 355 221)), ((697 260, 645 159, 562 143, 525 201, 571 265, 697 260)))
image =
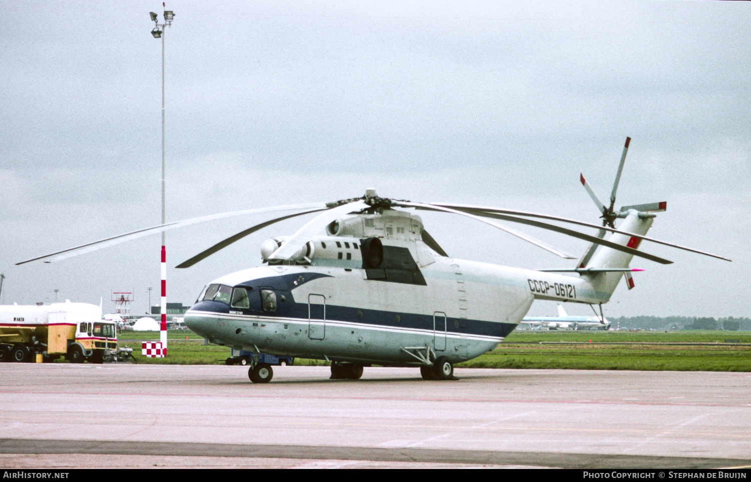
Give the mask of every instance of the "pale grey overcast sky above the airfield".
MULTIPOLYGON (((167 220, 380 195, 598 223, 579 184, 617 206, 668 201, 643 243, 674 261, 617 289, 605 315, 751 316, 748 2, 168 2, 167 220)), ((0 0, 2 303, 158 304, 160 237, 56 264, 14 264, 159 223, 161 2, 0 0)), ((421 213, 455 258, 572 267, 475 221, 421 213)), ((167 233, 167 300, 260 262, 275 224, 167 233)), ((512 226, 513 227, 513 226, 512 226)), ((517 227, 580 255, 587 243, 517 227)), ((591 314, 587 306, 570 314, 591 314)), ((554 315, 535 302, 532 315, 554 315)))

